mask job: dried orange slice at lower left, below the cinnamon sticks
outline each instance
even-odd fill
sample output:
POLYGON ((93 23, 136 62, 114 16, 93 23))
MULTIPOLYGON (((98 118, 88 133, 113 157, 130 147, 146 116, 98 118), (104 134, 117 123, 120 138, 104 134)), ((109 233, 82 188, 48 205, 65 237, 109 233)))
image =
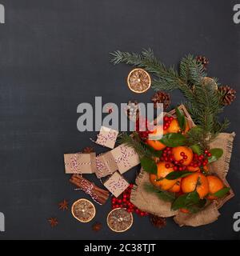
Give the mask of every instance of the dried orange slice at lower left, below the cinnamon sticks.
POLYGON ((92 202, 82 198, 74 202, 72 214, 79 222, 90 222, 95 217, 96 209, 92 202))

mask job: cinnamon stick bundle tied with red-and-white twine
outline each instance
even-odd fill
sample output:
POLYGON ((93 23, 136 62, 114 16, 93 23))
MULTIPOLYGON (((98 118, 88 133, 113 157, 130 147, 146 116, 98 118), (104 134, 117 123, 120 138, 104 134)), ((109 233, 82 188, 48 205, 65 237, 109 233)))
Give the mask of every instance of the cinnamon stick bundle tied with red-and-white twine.
POLYGON ((96 186, 93 182, 90 182, 86 178, 78 174, 73 174, 70 178, 70 182, 78 187, 78 189, 84 191, 86 194, 89 194, 95 202, 98 202, 100 205, 105 204, 106 200, 109 198, 109 191, 102 190, 100 187, 96 186))

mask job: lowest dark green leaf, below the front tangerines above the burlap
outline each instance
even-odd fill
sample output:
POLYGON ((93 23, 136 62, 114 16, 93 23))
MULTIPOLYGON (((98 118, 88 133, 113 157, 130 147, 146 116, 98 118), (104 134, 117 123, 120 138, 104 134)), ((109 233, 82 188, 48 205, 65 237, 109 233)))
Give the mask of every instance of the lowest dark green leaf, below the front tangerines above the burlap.
POLYGON ((199 200, 200 198, 197 191, 190 192, 188 194, 182 194, 172 204, 172 210, 178 210, 181 208, 186 208, 186 206, 197 204, 199 200))

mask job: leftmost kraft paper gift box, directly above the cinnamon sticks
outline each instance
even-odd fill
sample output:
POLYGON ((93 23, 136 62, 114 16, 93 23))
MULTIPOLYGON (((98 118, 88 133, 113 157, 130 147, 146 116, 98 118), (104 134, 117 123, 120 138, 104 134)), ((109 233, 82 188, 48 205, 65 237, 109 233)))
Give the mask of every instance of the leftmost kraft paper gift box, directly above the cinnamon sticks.
POLYGON ((96 171, 96 154, 64 154, 66 174, 94 174, 96 171))

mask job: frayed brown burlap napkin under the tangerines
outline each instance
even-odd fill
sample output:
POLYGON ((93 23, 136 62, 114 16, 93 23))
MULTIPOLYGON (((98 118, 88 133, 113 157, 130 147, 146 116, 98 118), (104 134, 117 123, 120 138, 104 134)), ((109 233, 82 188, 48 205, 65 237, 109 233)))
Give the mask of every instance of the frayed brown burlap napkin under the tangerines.
MULTIPOLYGON (((218 135, 213 143, 211 143, 212 148, 222 148, 223 155, 217 162, 210 165, 210 172, 217 174, 219 178, 222 178, 222 181, 226 186, 229 186, 226 181, 226 174, 229 170, 234 137, 234 133, 222 133, 218 135)), ((225 198, 212 202, 197 214, 183 214, 179 211, 171 210, 170 202, 162 201, 158 198, 157 194, 146 192, 144 188, 146 183, 150 184, 149 174, 144 170, 141 170, 138 178, 136 179, 137 185, 134 186, 130 201, 140 210, 149 212, 150 214, 155 214, 165 218, 175 216, 174 221, 177 222, 179 226, 202 226, 216 221, 220 215, 218 209, 222 207, 226 201, 234 197, 234 192, 230 190, 230 194, 225 198)))

